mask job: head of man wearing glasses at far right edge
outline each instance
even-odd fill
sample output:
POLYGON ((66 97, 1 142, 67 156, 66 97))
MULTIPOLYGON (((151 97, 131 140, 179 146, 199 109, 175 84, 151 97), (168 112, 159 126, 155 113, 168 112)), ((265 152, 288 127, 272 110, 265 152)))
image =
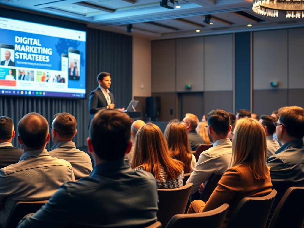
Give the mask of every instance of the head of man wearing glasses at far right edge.
POLYGON ((304 109, 299 106, 285 106, 278 110, 276 133, 284 144, 304 136, 304 109))

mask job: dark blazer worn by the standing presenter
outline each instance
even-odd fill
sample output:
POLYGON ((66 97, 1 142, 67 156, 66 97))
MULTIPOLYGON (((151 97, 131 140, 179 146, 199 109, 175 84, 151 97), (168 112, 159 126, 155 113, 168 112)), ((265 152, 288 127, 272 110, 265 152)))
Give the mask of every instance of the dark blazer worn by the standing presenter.
MULTIPOLYGON (((111 98, 111 103, 115 104, 113 94, 110 92, 109 95, 111 98)), ((100 109, 106 109, 107 106, 108 106, 108 102, 105 98, 105 95, 103 95, 101 89, 98 86, 95 90, 93 90, 90 93, 90 97, 89 97, 89 112, 91 114, 91 119, 88 128, 90 128, 90 123, 94 117, 94 114, 98 112, 100 109)))

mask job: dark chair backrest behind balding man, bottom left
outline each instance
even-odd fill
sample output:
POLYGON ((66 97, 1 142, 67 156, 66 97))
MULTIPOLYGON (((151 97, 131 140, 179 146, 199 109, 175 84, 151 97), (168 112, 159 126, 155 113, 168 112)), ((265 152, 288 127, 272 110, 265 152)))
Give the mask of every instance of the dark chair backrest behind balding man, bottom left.
POLYGON ((16 228, 19 221, 29 213, 38 211, 48 200, 18 201, 12 207, 5 228, 16 228))

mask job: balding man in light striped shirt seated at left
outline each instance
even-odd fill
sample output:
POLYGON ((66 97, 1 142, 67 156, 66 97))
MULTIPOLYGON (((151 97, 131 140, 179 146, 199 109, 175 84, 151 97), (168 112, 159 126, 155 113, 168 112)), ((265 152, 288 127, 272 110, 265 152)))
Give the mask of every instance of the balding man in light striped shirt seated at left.
POLYGON ((24 154, 20 161, 0 169, 0 226, 5 227, 9 212, 17 201, 49 199, 66 181, 74 181, 71 164, 49 156, 47 120, 36 112, 18 123, 18 141, 24 154))

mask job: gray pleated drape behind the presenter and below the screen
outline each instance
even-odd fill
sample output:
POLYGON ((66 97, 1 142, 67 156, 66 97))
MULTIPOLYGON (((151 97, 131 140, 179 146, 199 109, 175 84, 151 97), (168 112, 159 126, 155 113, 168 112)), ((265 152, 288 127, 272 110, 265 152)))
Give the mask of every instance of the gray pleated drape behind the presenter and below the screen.
MULTIPOLYGON (((132 98, 132 36, 88 28, 86 63, 87 98, 85 100, 0 95, 0 116, 8 116, 14 122, 16 136, 12 143, 15 147, 21 148, 17 140, 18 122, 29 112, 40 113, 50 126, 56 113, 71 113, 77 121, 77 134, 73 141, 76 147, 86 146, 90 119, 88 98, 90 92, 98 86, 96 76, 101 71, 111 74, 110 91, 114 94, 115 106, 122 108, 129 104, 132 98)), ((53 144, 53 142, 48 143, 47 150, 50 150, 53 144)))

